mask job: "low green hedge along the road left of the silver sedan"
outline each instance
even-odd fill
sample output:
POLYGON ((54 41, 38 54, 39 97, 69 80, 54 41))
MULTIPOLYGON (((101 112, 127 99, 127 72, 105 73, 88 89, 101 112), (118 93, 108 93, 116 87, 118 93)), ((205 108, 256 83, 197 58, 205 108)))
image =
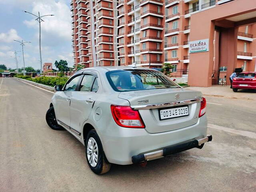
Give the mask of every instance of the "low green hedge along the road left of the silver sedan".
POLYGON ((21 79, 26 79, 26 80, 30 80, 36 83, 40 83, 40 84, 44 84, 44 85, 48 85, 48 86, 55 86, 55 85, 62 85, 64 86, 65 83, 68 80, 68 77, 46 77, 46 76, 42 76, 42 77, 36 77, 36 78, 31 78, 30 76, 24 76, 24 75, 15 75, 15 77, 17 78, 21 78, 21 79))

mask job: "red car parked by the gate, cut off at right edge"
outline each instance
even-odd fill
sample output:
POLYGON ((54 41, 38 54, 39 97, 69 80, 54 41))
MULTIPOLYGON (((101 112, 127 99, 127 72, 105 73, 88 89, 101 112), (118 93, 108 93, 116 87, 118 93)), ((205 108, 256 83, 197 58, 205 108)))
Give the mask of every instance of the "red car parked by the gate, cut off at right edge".
POLYGON ((256 91, 256 72, 242 72, 233 78, 232 88, 234 92, 238 89, 254 89, 256 91))

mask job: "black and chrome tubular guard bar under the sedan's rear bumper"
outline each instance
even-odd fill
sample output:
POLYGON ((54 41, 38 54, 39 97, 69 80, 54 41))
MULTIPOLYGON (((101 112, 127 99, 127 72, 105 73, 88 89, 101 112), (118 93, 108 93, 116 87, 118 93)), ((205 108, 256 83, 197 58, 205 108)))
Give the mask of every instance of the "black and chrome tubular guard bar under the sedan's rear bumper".
POLYGON ((179 153, 185 150, 189 150, 192 148, 200 148, 202 149, 204 146, 204 143, 212 141, 212 136, 207 136, 202 139, 197 139, 197 140, 192 140, 189 142, 185 142, 182 144, 177 144, 174 146, 166 147, 162 150, 146 153, 146 154, 139 154, 139 155, 134 155, 132 156, 132 162, 133 163, 139 163, 143 161, 148 161, 148 160, 154 160, 156 158, 161 158, 164 156, 168 156, 171 154, 179 153))

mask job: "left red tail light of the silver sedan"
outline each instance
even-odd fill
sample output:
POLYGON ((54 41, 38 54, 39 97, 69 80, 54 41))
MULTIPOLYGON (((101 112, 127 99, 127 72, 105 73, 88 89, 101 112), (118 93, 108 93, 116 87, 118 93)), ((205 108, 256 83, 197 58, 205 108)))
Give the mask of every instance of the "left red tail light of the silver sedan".
POLYGON ((139 112, 130 106, 111 105, 111 112, 116 124, 121 127, 145 128, 139 112))

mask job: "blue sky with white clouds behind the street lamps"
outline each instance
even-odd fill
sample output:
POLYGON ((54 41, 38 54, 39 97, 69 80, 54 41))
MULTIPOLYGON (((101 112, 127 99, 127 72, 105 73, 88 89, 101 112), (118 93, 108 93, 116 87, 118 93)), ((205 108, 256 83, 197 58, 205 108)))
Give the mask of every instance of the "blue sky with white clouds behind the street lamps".
POLYGON ((71 0, 0 0, 0 64, 16 68, 14 53, 18 52, 18 67, 23 67, 22 46, 14 40, 31 41, 24 46, 25 67, 40 68, 39 24, 36 17, 23 10, 46 16, 41 22, 42 63, 67 60, 73 66, 71 0))

